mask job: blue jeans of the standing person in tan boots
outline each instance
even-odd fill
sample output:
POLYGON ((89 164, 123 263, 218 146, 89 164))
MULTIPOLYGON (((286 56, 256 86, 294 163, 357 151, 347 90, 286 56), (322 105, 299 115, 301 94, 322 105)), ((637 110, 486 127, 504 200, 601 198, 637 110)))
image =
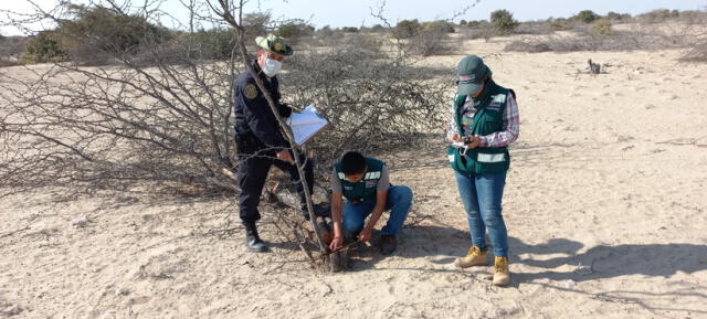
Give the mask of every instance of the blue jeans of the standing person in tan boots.
POLYGON ((506 185, 506 173, 474 174, 456 173, 462 203, 466 211, 472 245, 486 249, 486 228, 494 255, 508 257, 508 232, 502 215, 502 198, 506 185))

